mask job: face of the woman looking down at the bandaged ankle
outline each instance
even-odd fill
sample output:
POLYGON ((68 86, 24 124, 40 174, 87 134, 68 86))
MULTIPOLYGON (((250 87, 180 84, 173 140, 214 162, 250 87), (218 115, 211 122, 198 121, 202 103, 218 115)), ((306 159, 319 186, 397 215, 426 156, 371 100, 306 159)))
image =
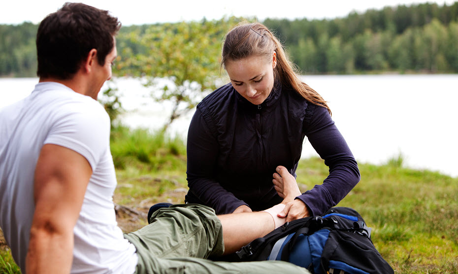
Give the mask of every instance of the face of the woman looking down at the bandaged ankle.
POLYGON ((240 60, 227 60, 225 67, 235 90, 254 105, 261 105, 273 88, 273 69, 277 65, 275 52, 272 59, 249 56, 240 60))

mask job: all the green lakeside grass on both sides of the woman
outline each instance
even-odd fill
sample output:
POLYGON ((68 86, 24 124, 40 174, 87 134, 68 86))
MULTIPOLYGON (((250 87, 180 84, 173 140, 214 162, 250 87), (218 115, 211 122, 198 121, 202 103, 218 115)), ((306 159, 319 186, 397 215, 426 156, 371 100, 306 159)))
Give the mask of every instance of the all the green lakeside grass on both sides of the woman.
MULTIPOLYGON (((140 213, 118 211, 124 231, 145 225, 154 203, 183 202, 188 190, 183 140, 120 127, 113 130, 111 149, 118 178, 114 201, 140 213)), ((338 205, 360 212, 395 273, 458 274, 458 178, 402 164, 402 156, 383 165, 359 164, 360 183, 338 205)), ((299 188, 313 188, 327 174, 323 160, 301 160, 299 188)), ((20 273, 2 237, 0 257, 0 274, 20 273)))

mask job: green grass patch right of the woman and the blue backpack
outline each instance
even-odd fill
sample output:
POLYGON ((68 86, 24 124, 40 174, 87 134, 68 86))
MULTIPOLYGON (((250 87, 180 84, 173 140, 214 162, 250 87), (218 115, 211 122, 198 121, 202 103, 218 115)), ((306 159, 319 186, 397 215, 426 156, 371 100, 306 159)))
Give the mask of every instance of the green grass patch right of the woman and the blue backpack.
POLYGON ((360 183, 339 206, 360 212, 396 273, 458 273, 458 179, 402 167, 359 164, 360 183))

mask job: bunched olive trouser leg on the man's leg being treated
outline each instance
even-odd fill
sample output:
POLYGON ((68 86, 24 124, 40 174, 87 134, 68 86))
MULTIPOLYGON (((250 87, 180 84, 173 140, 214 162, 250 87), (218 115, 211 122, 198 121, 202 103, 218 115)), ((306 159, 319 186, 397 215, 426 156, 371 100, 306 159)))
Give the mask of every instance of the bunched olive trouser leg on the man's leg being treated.
POLYGON ((139 260, 150 258, 221 256, 224 252, 221 221, 202 205, 173 205, 153 213, 150 224, 125 234, 139 260))

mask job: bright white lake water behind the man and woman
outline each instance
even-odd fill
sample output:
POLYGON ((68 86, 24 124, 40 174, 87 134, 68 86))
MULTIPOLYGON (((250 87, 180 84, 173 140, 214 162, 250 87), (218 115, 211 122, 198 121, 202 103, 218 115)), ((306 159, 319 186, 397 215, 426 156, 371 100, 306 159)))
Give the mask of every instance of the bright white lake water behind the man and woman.
MULTIPOLYGON (((304 76, 329 102, 332 118, 359 163, 383 164, 401 154, 406 166, 458 176, 458 75, 304 76)), ((170 112, 135 79, 116 79, 123 123, 158 129, 170 112)), ((30 94, 36 78, 0 79, 0 107, 30 94)), ((193 112, 176 120, 186 137, 193 112)), ((310 143, 302 157, 317 156, 310 143)))

